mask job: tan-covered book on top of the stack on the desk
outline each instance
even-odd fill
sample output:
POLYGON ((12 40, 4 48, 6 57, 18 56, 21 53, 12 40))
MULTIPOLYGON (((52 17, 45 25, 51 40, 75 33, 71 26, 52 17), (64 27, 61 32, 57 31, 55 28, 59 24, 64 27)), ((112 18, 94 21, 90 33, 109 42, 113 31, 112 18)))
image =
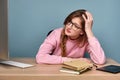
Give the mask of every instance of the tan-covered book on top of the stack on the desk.
POLYGON ((80 70, 86 70, 87 68, 92 68, 93 64, 82 60, 73 60, 73 61, 64 62, 62 67, 71 70, 80 71, 80 70))

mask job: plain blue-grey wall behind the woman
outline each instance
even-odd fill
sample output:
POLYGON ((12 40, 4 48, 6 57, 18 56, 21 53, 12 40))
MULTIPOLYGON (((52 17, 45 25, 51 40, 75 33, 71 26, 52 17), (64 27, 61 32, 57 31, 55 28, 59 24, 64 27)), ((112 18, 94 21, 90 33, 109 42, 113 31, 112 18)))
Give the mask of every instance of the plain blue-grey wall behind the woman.
POLYGON ((93 32, 105 54, 120 62, 120 0, 9 0, 11 57, 35 57, 49 30, 62 27, 74 10, 94 16, 93 32))

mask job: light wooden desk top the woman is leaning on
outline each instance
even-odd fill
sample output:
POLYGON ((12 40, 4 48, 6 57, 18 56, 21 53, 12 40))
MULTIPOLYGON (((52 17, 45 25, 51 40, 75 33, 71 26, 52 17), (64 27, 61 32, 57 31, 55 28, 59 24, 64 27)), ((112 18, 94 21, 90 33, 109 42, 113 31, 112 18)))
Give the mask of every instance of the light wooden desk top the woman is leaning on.
MULTIPOLYGON (((120 73, 112 74, 93 69, 83 74, 75 75, 59 72, 61 65, 36 64, 35 59, 32 58, 12 60, 30 63, 35 66, 21 69, 0 65, 0 80, 120 80, 120 73)), ((117 62, 107 59, 107 64, 117 64, 117 62)))

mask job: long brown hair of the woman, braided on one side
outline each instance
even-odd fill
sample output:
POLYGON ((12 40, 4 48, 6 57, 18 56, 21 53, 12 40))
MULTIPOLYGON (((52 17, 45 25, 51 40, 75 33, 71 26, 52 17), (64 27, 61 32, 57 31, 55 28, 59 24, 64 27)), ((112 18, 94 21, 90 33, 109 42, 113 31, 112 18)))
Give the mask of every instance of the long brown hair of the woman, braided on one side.
MULTIPOLYGON (((75 17, 79 17, 81 19, 82 31, 84 32, 84 34, 81 35, 78 39, 79 47, 83 47, 87 41, 87 35, 85 33, 85 20, 82 17, 82 15, 85 15, 85 17, 87 18, 85 12, 86 12, 86 10, 84 10, 84 9, 76 10, 76 11, 72 12, 71 14, 69 14, 64 21, 64 26, 65 26, 66 24, 71 22, 71 20, 75 17)), ((60 38, 61 56, 63 56, 63 57, 65 57, 66 53, 67 53, 66 52, 67 39, 68 39, 68 37, 67 37, 67 35, 65 35, 65 27, 64 27, 62 30, 62 33, 61 33, 61 38, 60 38)))

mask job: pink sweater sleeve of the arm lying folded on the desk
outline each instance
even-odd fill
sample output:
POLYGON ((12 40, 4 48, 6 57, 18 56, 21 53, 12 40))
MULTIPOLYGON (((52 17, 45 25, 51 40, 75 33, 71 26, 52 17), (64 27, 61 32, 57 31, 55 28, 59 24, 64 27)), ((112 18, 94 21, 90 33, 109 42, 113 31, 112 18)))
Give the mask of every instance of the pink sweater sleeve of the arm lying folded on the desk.
POLYGON ((36 55, 36 62, 46 63, 46 64, 61 64, 66 58, 63 58, 58 55, 50 55, 54 48, 56 48, 56 33, 52 31, 52 33, 44 40, 41 44, 38 53, 36 55))

